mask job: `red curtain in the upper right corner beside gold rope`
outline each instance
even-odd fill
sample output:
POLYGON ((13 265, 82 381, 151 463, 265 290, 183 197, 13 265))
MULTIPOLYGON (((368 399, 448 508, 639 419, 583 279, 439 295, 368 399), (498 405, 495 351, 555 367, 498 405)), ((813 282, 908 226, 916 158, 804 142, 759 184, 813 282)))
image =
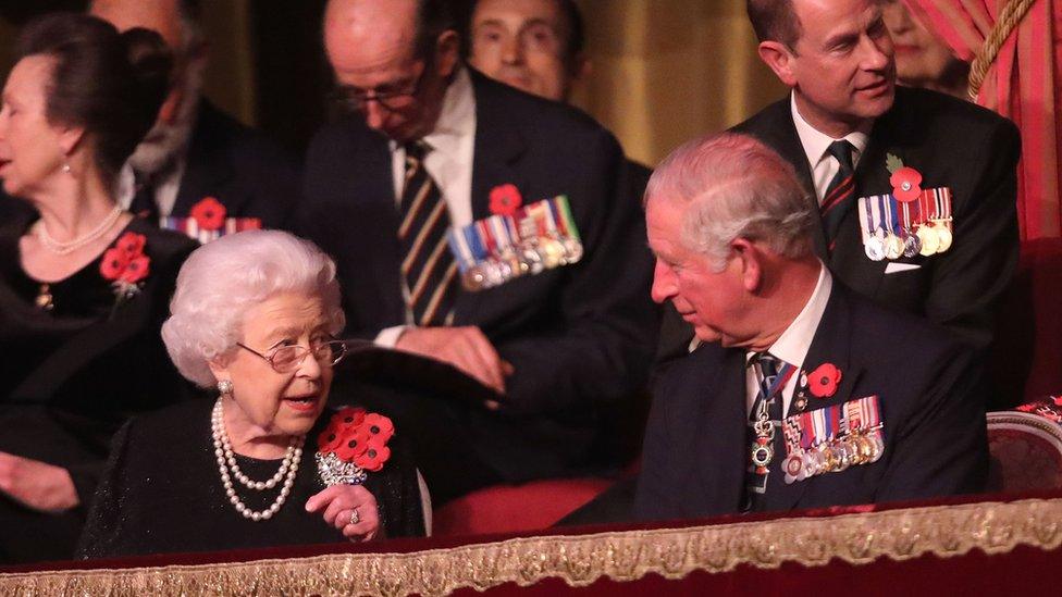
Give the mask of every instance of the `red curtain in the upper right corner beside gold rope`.
MULTIPOLYGON (((904 0, 967 62, 980 51, 1010 2, 904 0)), ((1062 140, 1062 0, 1035 0, 987 71, 977 103, 1022 129, 1017 214, 1022 239, 1062 236, 1059 142, 1062 140)))

